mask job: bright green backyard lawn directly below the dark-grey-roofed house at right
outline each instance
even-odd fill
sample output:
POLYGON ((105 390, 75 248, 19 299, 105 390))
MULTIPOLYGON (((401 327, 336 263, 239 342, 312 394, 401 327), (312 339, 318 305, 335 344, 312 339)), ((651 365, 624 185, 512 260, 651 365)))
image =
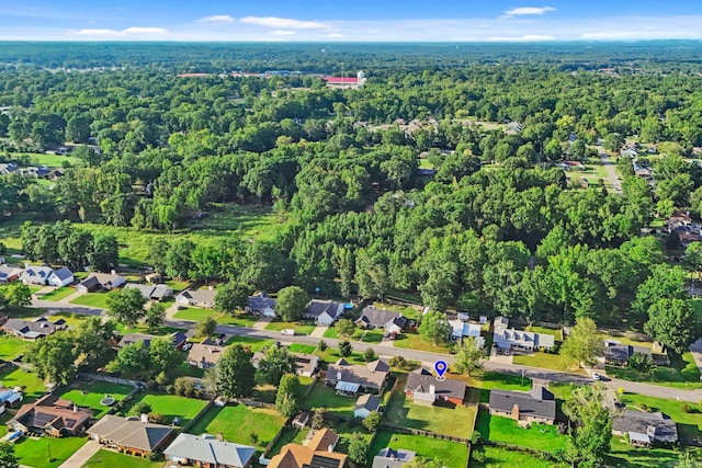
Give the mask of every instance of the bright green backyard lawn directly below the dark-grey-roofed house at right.
POLYGON ((517 421, 492 416, 484 409, 478 411, 475 429, 483 438, 544 452, 553 453, 564 448, 566 443, 566 436, 558 434, 555 425, 531 424, 529 427, 520 427, 517 421))

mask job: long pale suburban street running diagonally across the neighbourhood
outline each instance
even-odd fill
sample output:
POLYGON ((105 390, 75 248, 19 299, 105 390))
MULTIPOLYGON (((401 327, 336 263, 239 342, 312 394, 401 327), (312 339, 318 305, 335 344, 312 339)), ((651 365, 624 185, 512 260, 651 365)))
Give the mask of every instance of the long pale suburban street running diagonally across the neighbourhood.
MULTIPOLYGON (((47 300, 37 300, 34 299, 32 301, 33 307, 41 307, 48 309, 48 315, 54 312, 68 312, 68 313, 78 313, 78 315, 87 315, 87 316, 104 316, 104 310, 93 307, 86 306, 76 306, 72 304, 59 304, 52 303, 47 300)), ((190 320, 178 320, 178 319, 167 319, 165 321, 167 327, 172 328, 181 328, 189 330, 192 332, 192 329, 195 326, 195 322, 190 320)), ((225 333, 228 335, 237 335, 237 336, 248 336, 256 338, 261 340, 275 340, 280 341, 283 344, 288 343, 298 343, 298 344, 308 344, 316 346, 319 343, 319 338, 310 336, 310 335, 283 335, 279 331, 272 330, 259 330, 254 328, 242 328, 227 324, 219 324, 216 329, 217 333, 225 333)), ((191 333, 189 333, 191 334, 191 333)), ((340 340, 325 338, 325 342, 330 347, 338 347, 340 340)), ((384 341, 381 344, 369 344, 362 342, 353 342, 353 350, 363 352, 369 347, 372 347, 376 354, 383 357, 393 357, 393 356, 403 356, 406 359, 419 361, 427 365, 433 365, 433 363, 438 359, 443 359, 448 364, 453 363, 453 356, 448 354, 440 353, 431 353, 426 351, 416 351, 416 350, 406 350, 400 347, 394 347, 392 342, 384 341)), ((497 363, 485 361, 484 368, 486 370, 491 370, 496 373, 502 374, 511 374, 511 375, 523 375, 524 377, 529 377, 535 380, 542 381, 555 381, 562 384, 591 384, 593 380, 591 377, 582 374, 571 374, 561 370, 552 370, 552 369, 542 369, 537 367, 529 367, 521 366, 517 364, 507 364, 507 363, 497 363)), ((601 373, 598 370, 598 373, 601 373)), ((630 380, 620 380, 620 379, 605 379, 603 381, 610 389, 616 390, 618 388, 623 388, 625 391, 646 395, 649 397, 656 398, 675 398, 680 401, 688 402, 699 402, 702 400, 702 389, 695 390, 683 390, 676 389, 670 387, 664 387, 658 385, 650 384, 642 384, 630 380)))

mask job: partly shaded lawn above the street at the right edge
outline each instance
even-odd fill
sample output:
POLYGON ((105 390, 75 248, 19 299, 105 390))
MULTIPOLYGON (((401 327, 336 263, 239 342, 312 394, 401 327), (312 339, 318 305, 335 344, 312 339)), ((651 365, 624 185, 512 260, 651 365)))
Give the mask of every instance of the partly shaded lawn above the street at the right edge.
POLYGON ((666 387, 694 389, 702 387, 700 383, 700 369, 692 353, 687 352, 682 356, 673 356, 670 366, 658 366, 653 376, 642 375, 631 367, 607 366, 607 374, 624 380, 645 381, 647 384, 663 385, 666 387))

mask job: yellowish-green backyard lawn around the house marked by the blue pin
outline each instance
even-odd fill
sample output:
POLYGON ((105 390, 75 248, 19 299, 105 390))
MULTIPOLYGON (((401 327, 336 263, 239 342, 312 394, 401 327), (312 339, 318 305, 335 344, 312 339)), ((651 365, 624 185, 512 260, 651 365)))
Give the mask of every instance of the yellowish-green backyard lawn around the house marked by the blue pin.
POLYGON ((411 399, 405 397, 406 381, 406 375, 397 377, 385 410, 385 420, 388 424, 471 438, 476 407, 448 408, 415 404, 411 399))

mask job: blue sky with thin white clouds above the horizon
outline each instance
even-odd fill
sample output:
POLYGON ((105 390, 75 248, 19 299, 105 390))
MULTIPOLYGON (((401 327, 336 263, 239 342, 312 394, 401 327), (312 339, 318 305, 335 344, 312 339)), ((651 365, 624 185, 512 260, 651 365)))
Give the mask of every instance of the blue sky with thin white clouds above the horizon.
POLYGON ((702 39, 699 0, 22 0, 0 39, 466 42, 702 39))

